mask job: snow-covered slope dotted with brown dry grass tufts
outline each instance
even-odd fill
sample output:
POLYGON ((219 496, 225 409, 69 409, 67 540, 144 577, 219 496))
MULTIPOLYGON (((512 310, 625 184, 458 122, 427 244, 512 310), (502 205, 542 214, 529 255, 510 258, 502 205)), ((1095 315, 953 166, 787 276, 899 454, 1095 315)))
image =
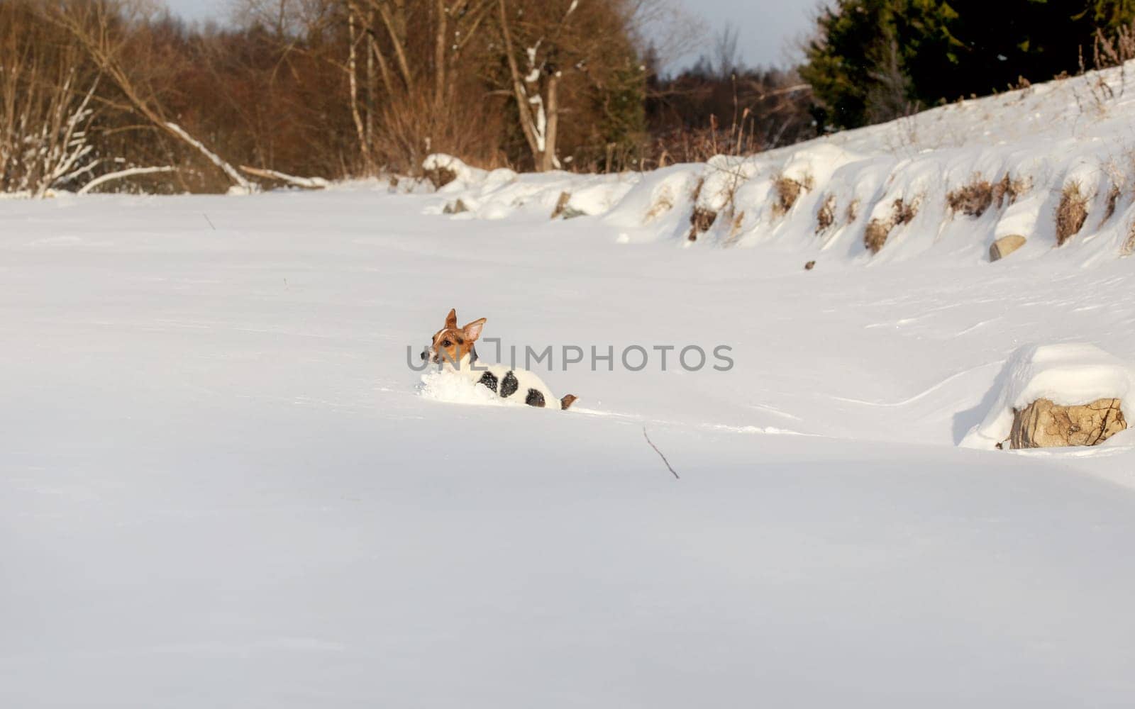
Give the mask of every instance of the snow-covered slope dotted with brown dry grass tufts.
POLYGON ((482 219, 548 217, 566 193, 628 242, 690 244, 698 210, 697 242, 759 245, 825 267, 983 262, 1009 235, 1027 238, 1014 261, 1056 258, 1058 243, 1065 260, 1113 260, 1135 250, 1135 65, 1127 68, 645 175, 516 176, 452 161, 459 179, 440 192, 469 210, 460 218, 482 219))

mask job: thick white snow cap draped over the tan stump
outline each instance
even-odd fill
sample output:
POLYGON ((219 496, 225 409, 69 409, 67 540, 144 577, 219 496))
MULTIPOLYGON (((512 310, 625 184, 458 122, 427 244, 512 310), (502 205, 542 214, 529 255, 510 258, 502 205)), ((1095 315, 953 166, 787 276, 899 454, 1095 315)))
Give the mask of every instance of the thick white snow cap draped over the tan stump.
POLYGON ((994 388, 993 405, 961 440, 962 447, 994 448, 1009 437, 1014 410, 1036 399, 1075 406, 1118 398, 1126 417, 1132 413, 1127 396, 1135 391, 1135 368, 1095 345, 1031 345, 1009 357, 994 388))

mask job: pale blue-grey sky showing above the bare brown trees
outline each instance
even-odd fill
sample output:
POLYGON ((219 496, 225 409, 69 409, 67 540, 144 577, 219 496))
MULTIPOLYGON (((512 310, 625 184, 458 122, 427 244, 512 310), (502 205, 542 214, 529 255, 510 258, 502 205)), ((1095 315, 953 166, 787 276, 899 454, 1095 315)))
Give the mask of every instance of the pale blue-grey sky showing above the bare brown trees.
MULTIPOLYGON (((785 52, 793 41, 807 32, 808 18, 817 0, 676 0, 687 12, 698 17, 706 26, 705 47, 711 53, 713 34, 726 24, 737 27, 740 39, 738 50, 747 65, 783 65, 785 52)), ((168 0, 175 12, 186 19, 216 19, 227 17, 229 0, 168 0)), ((699 49, 678 60, 689 65, 699 49)))

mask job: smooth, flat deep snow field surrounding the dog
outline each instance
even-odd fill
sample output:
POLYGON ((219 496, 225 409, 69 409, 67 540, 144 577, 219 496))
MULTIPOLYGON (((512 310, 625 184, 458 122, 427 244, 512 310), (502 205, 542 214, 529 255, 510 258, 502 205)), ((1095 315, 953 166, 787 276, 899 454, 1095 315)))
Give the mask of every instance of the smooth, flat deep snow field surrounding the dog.
POLYGON ((587 178, 0 202, 0 707, 1135 704, 1135 433, 960 446, 1022 348, 1135 358, 1129 193, 997 263, 1057 172, 981 219, 932 191, 874 259, 814 234, 818 172, 751 247, 628 226, 697 169, 555 221, 587 178), (734 366, 557 354, 569 412, 440 400, 406 348, 449 307, 734 366))

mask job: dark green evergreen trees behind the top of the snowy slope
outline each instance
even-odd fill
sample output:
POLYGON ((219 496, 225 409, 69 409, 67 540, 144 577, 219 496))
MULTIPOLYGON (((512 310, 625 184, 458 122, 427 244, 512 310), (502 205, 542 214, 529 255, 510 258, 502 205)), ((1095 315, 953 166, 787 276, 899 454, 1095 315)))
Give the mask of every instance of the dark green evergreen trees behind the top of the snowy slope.
POLYGON ((801 76, 835 126, 1076 73, 1135 0, 836 0, 801 76))

